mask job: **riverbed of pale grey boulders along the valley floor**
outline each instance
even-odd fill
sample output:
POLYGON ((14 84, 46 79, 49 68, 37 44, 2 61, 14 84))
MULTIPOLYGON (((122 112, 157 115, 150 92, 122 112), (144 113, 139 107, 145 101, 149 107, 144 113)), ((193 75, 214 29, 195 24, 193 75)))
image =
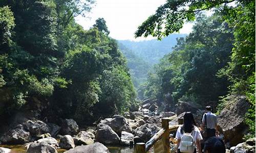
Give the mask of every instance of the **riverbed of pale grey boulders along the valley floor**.
MULTIPOLYGON (((243 131, 246 130, 246 127, 243 126, 243 111, 247 105, 242 96, 233 99, 235 101, 230 104, 228 109, 224 109, 218 118, 220 125, 226 124, 223 117, 232 119, 230 123, 234 126, 223 128, 226 139, 230 140, 227 142, 229 145, 230 142, 241 142, 238 139, 236 142, 231 141, 233 139, 228 135, 230 131, 232 131, 232 135, 242 135, 243 133, 240 133, 239 128, 243 127, 243 131), (240 108, 239 114, 236 114, 236 118, 232 118, 234 115, 230 114, 229 111, 236 110, 238 106, 240 108), (227 113, 229 115, 225 116, 227 113)), ((148 141, 161 129, 161 118, 169 117, 169 124, 178 124, 178 118, 182 118, 186 111, 191 111, 194 114, 197 123, 201 122, 204 111, 197 105, 180 101, 175 112, 158 111, 158 104, 154 100, 143 101, 137 111, 101 119, 94 126, 86 129, 79 129, 74 119, 62 119, 61 123, 57 125, 37 118, 20 116, 13 122, 10 130, 2 134, 0 141, 3 145, 0 152, 1 149, 2 152, 10 152, 12 149, 12 152, 28 153, 71 153, 90 152, 92 150, 98 152, 133 152, 134 144, 148 141)), ((237 144, 232 144, 232 146, 237 144)), ((248 147, 247 144, 255 146, 255 139, 246 142, 246 144, 240 144, 237 148, 231 148, 231 151, 244 149, 244 147, 251 149, 252 147, 248 147)))

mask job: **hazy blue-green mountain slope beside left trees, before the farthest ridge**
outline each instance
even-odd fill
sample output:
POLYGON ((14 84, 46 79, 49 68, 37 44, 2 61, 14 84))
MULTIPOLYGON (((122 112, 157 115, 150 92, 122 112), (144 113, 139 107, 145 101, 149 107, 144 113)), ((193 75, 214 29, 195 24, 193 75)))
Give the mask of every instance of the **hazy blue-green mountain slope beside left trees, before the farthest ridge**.
POLYGON ((118 42, 118 46, 127 60, 133 84, 137 89, 141 83, 146 81, 147 72, 151 69, 151 65, 135 55, 133 50, 125 47, 122 43, 118 42))

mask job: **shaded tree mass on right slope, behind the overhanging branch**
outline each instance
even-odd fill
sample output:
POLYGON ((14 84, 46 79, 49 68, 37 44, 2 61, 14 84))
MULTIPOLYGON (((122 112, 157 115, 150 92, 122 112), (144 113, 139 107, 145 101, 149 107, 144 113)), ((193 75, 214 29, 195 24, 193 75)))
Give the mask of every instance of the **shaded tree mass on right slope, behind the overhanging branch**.
POLYGON ((227 93, 227 79, 216 74, 229 61, 232 39, 232 30, 218 14, 198 16, 193 32, 178 39, 173 52, 155 66, 156 74, 148 77, 144 96, 155 96, 171 106, 179 99, 201 105, 217 101, 227 93))

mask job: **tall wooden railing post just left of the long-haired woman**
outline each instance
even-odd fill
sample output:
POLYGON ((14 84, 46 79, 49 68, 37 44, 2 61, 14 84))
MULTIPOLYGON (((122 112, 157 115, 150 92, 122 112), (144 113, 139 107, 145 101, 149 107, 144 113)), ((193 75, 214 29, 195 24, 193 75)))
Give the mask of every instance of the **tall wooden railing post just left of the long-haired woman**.
POLYGON ((170 153, 170 143, 169 143, 169 119, 168 118, 162 118, 162 127, 164 128, 163 133, 163 149, 164 152, 170 153))

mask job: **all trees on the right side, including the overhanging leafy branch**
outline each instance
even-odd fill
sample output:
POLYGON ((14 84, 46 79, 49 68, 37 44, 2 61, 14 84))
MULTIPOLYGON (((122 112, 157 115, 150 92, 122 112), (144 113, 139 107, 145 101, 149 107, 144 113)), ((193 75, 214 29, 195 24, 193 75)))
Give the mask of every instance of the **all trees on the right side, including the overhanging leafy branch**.
POLYGON ((135 35, 162 39, 194 20, 193 32, 154 66, 139 95, 164 100, 170 108, 179 100, 201 106, 215 101, 219 112, 228 95, 245 95, 247 138, 255 137, 255 1, 167 1, 135 35), (202 14, 209 9, 212 16, 202 14))

